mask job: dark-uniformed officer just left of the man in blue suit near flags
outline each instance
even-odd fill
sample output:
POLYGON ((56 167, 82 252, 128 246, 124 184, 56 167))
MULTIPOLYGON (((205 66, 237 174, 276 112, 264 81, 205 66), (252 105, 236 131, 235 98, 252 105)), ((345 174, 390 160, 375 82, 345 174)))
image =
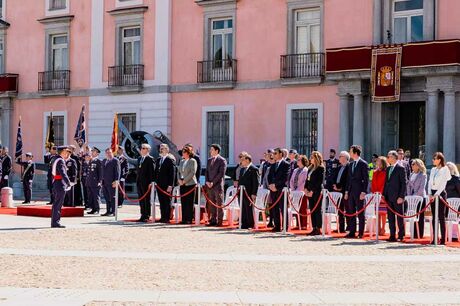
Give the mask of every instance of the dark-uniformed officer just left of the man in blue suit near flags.
POLYGON ((88 196, 90 200, 91 211, 90 215, 98 214, 101 204, 101 186, 102 186, 102 162, 99 159, 99 150, 93 147, 91 150, 91 162, 89 164, 89 172, 86 177, 86 184, 88 186, 88 196))

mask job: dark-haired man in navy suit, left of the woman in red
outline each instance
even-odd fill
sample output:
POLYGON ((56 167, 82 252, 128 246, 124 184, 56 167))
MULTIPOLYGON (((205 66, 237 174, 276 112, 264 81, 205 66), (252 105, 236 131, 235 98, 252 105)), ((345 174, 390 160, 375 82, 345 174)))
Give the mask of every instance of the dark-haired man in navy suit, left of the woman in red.
MULTIPOLYGON (((348 183, 344 199, 348 201, 347 213, 354 214, 364 206, 364 199, 369 185, 369 165, 361 158, 361 146, 353 145, 350 148, 350 156, 353 161, 348 167, 348 183)), ((364 235, 364 211, 358 215, 359 233, 358 238, 364 235)), ((355 238, 356 217, 348 218, 350 233, 346 238, 355 238)))

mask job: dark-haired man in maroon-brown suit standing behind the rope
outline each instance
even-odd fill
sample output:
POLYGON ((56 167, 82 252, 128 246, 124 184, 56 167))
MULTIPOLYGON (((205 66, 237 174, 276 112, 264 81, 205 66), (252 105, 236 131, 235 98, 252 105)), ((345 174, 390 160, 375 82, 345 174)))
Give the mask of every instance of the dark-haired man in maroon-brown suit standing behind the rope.
MULTIPOLYGON (((224 201, 224 180, 225 171, 227 170, 227 161, 220 156, 220 145, 212 144, 209 150, 210 158, 206 167, 206 192, 209 199, 217 206, 222 206, 224 201)), ((208 226, 222 226, 224 211, 222 208, 217 208, 211 203, 207 203, 207 211, 209 214, 208 226)))

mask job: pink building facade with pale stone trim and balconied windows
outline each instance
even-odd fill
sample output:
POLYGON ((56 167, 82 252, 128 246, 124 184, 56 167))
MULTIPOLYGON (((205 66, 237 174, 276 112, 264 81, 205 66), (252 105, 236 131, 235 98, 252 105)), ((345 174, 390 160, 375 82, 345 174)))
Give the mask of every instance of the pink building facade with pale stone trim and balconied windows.
MULTIPOLYGON (((371 102, 370 71, 329 73, 328 50, 456 40, 456 0, 2 0, 0 142, 44 153, 109 145, 115 114, 130 132, 160 130, 230 164, 269 147, 365 155, 403 147, 460 160, 460 56, 404 68, 401 101, 371 102), (26 39, 27 38, 27 39, 26 39)), ((453 50, 460 54, 460 50, 453 50)), ((443 54, 439 54, 440 57, 443 54)), ((39 158, 37 158, 39 160, 39 158)))

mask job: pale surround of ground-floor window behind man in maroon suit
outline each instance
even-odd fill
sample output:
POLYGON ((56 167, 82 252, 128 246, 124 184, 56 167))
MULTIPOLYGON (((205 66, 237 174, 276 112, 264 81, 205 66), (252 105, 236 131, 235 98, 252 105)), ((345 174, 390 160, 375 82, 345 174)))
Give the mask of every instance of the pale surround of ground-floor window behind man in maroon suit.
POLYGON ((222 105, 222 106, 203 106, 201 111, 201 164, 206 165, 208 156, 208 146, 211 144, 207 143, 208 129, 207 119, 208 113, 210 112, 229 112, 229 127, 228 127, 228 163, 234 164, 234 146, 235 146, 235 106, 234 105, 222 105))

